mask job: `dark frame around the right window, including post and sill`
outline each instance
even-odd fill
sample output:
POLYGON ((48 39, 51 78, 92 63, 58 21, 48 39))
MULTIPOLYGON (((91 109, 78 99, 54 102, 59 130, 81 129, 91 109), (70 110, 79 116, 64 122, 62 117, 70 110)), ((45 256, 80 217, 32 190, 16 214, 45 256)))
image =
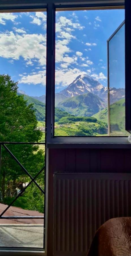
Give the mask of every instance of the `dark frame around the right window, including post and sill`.
MULTIPOLYGON (((55 2, 55 1, 54 1, 55 2)), ((72 1, 73 2, 73 1, 72 1)), ((103 144, 103 147, 105 144, 108 144, 109 147, 111 144, 119 144, 119 147, 129 147, 130 143, 128 142, 128 137, 64 137, 64 136, 54 136, 54 114, 55 114, 55 11, 57 9, 59 10, 69 10, 69 9, 81 9, 81 8, 107 8, 107 7, 124 7, 124 1, 86 1, 87 4, 58 4, 55 5, 52 4, 52 24, 49 24, 47 28, 47 35, 48 33, 50 34, 50 42, 52 44, 50 47, 48 47, 48 42, 47 42, 47 62, 51 63, 50 67, 48 67, 47 64, 47 90, 46 91, 46 108, 47 108, 47 126, 46 126, 46 131, 47 131, 47 147, 52 147, 51 144, 54 144, 53 147, 60 147, 59 143, 64 145, 67 145, 70 147, 72 143, 79 143, 79 144, 103 144), (48 60, 51 61, 49 61, 48 60)), ((48 5, 49 7, 49 5, 48 5)), ((51 8, 51 4, 50 4, 51 8)))

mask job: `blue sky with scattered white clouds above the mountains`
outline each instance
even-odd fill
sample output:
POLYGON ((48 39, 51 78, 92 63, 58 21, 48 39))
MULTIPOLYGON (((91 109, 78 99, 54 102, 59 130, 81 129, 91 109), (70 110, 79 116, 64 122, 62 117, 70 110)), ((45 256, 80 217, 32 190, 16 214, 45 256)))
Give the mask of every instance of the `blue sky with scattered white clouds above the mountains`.
MULTIPOLYGON (((55 92, 66 88, 82 73, 107 86, 107 39, 123 20, 124 10, 56 13, 55 92)), ((115 52, 116 56, 112 50, 112 61, 113 56, 117 58, 115 52)), ((120 60, 124 62, 123 55, 120 60)), ((117 70, 123 68, 123 64, 116 65, 117 70)), ((0 66, 1 74, 8 73, 28 95, 45 94, 45 12, 0 14, 0 66)), ((124 87, 123 74, 119 80, 112 79, 111 86, 124 87)))

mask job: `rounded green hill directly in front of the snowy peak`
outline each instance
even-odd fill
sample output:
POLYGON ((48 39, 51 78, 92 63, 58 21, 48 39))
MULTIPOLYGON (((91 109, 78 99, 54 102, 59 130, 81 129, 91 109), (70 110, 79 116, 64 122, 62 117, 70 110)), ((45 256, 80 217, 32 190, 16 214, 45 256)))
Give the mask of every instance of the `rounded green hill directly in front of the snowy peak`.
POLYGON ((88 92, 86 94, 67 98, 57 107, 62 111, 76 116, 91 116, 106 107, 104 101, 97 95, 88 92))

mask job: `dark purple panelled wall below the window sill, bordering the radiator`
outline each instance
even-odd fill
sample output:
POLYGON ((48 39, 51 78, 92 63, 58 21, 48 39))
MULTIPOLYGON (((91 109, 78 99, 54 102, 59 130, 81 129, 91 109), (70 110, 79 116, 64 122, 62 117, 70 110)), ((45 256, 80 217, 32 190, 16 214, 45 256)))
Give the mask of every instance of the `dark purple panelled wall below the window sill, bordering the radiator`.
POLYGON ((48 256, 53 255, 53 174, 54 172, 120 172, 131 169, 130 149, 49 149, 48 256))

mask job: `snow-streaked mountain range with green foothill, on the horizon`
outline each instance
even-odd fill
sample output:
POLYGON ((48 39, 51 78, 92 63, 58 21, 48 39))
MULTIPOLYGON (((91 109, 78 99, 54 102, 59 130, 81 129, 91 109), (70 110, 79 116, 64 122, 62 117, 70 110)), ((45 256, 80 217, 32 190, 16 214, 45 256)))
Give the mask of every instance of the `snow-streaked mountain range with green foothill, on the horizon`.
MULTIPOLYGON (((20 94, 26 93, 19 90, 20 94)), ((110 104, 125 97, 124 88, 110 88, 110 104)), ((46 96, 32 96, 42 103, 46 96)), ((71 115, 91 116, 106 108, 108 102, 108 88, 89 75, 82 74, 59 93, 55 93, 55 107, 71 115)))

